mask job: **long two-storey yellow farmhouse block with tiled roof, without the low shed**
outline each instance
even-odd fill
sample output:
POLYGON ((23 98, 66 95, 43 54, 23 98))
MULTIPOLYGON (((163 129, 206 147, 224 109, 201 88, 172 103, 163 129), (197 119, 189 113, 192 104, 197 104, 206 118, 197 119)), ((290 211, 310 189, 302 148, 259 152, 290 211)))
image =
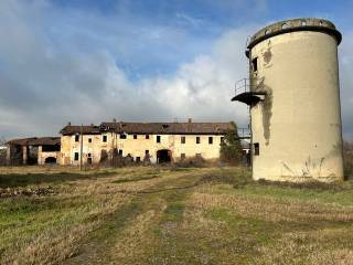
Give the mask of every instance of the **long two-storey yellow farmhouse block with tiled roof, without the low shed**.
POLYGON ((229 123, 103 123, 62 130, 61 165, 98 163, 113 156, 133 161, 168 162, 192 157, 220 158, 229 123), (82 152, 82 158, 81 158, 82 152))

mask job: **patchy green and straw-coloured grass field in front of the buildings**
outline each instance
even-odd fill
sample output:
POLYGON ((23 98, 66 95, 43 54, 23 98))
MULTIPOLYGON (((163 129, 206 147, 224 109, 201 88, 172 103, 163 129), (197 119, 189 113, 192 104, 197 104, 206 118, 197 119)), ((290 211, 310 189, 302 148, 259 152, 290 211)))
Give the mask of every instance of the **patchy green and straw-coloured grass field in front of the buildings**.
POLYGON ((0 168, 0 264, 353 264, 351 181, 21 167, 0 168))

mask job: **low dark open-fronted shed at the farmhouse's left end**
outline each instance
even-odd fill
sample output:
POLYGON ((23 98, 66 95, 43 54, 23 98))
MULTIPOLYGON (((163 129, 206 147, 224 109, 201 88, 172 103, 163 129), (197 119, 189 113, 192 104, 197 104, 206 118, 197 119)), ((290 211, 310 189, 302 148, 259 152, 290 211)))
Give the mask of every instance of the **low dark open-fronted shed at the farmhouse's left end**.
POLYGON ((56 163, 60 157, 60 137, 32 137, 7 142, 8 165, 56 163))

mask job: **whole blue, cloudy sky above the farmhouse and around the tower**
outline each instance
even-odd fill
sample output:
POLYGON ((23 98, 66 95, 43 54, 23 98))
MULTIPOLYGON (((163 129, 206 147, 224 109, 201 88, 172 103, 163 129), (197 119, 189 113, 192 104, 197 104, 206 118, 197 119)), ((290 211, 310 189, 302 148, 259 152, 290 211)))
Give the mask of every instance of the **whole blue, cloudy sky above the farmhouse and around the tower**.
POLYGON ((68 123, 229 121, 246 40, 266 24, 323 18, 339 46, 343 136, 353 140, 353 0, 0 0, 0 137, 68 123))

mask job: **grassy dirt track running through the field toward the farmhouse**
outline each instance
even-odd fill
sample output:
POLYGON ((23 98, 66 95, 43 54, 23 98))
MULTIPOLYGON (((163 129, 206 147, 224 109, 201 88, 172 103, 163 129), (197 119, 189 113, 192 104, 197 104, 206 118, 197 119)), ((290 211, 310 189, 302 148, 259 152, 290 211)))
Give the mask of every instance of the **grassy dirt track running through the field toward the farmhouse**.
MULTIPOLYGON (((202 174, 178 173, 140 189, 64 264, 163 264, 176 255, 172 234, 202 174)), ((147 180, 148 181, 148 180, 147 180)))

